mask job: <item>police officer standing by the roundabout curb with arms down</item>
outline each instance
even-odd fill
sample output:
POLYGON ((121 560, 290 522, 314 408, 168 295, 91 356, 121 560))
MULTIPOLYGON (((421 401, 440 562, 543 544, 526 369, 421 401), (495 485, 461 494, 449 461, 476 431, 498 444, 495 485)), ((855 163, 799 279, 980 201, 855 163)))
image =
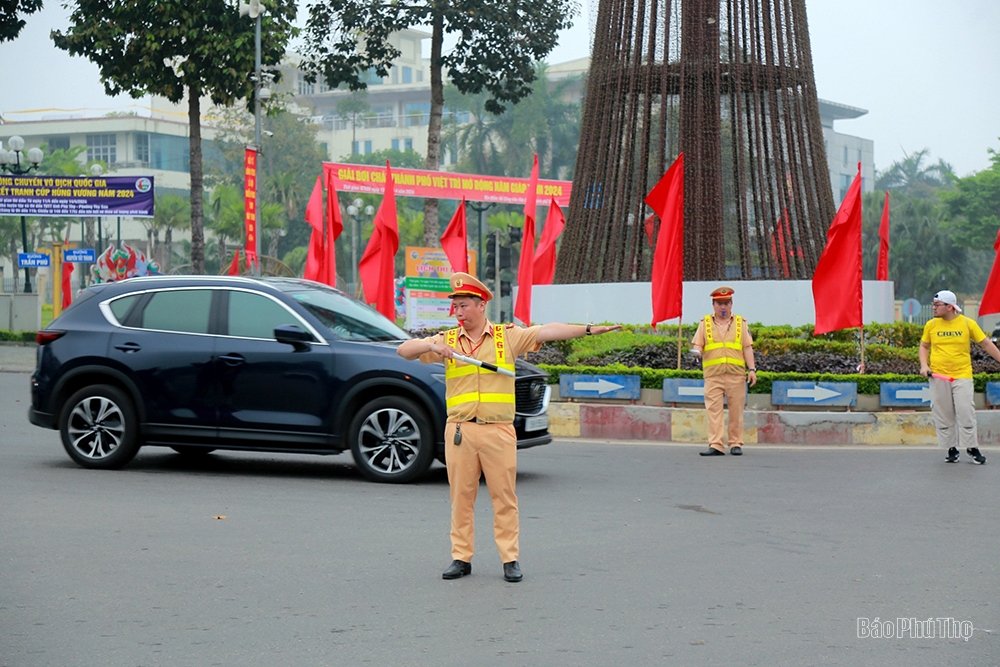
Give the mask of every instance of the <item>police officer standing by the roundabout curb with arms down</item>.
POLYGON ((705 409, 708 411, 708 449, 702 456, 725 456, 723 446, 723 409, 729 403, 729 453, 743 454, 743 405, 746 383, 757 384, 753 358, 753 338, 746 322, 733 314, 732 287, 712 291, 712 314, 698 324, 691 340, 691 351, 701 358, 705 375, 705 409))

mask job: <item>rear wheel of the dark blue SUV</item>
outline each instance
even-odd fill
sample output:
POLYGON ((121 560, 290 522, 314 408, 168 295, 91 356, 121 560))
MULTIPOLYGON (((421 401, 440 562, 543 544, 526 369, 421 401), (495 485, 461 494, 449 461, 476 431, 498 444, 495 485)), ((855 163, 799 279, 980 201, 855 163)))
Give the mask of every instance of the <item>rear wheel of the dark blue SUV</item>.
POLYGON ((125 392, 104 384, 74 393, 59 415, 63 447, 85 468, 111 470, 131 461, 139 451, 138 426, 125 392))

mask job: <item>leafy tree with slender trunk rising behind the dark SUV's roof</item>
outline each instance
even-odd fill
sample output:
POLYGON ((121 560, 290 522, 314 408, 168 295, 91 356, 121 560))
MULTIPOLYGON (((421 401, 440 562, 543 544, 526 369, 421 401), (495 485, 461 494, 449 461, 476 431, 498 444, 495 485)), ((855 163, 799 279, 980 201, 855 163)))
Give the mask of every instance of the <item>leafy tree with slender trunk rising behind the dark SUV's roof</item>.
MULTIPOLYGON (((205 272, 201 98, 218 106, 252 102, 254 21, 225 0, 70 0, 70 27, 55 45, 98 66, 108 95, 188 101, 191 147, 191 266, 205 272)), ((261 62, 274 68, 295 34, 295 0, 269 0, 261 62)), ((274 70, 276 74, 276 70, 274 70)))

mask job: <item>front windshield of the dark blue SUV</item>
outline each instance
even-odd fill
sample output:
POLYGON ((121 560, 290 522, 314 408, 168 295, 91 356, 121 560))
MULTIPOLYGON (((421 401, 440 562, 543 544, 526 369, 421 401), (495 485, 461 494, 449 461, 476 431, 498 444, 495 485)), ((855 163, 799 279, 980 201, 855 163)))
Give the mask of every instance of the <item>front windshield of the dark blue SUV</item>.
POLYGON ((410 336, 360 301, 319 286, 289 290, 289 295, 343 340, 406 340, 410 336))

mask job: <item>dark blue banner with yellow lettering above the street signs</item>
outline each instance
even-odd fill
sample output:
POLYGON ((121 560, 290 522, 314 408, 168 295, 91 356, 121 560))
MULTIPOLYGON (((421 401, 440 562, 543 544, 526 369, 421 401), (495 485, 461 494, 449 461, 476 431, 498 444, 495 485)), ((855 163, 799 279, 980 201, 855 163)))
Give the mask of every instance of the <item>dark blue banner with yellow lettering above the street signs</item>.
POLYGON ((153 217, 152 176, 0 176, 0 215, 153 217))

